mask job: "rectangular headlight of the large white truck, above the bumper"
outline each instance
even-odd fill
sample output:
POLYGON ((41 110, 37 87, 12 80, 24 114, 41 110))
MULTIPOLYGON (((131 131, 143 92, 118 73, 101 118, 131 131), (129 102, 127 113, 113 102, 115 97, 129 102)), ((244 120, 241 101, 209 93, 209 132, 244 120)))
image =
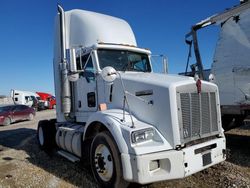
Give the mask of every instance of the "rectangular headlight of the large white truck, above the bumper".
POLYGON ((151 128, 134 131, 131 134, 132 143, 140 143, 147 140, 152 140, 154 134, 155 130, 151 128))

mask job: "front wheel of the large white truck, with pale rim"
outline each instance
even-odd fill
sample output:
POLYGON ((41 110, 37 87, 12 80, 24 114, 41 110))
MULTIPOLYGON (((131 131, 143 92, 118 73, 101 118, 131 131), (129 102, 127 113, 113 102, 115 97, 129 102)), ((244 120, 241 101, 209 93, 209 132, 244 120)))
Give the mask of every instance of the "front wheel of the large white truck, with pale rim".
POLYGON ((101 187, 127 187, 122 177, 121 159, 109 132, 98 133, 90 148, 91 169, 101 187))

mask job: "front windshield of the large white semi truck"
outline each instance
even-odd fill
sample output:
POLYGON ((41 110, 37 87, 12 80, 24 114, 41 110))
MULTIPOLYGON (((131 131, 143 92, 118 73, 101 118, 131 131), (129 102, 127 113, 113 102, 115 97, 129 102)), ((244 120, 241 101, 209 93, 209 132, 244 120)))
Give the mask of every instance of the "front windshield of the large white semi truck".
POLYGON ((101 69, 111 66, 117 71, 151 72, 147 54, 107 49, 99 49, 97 54, 101 69))

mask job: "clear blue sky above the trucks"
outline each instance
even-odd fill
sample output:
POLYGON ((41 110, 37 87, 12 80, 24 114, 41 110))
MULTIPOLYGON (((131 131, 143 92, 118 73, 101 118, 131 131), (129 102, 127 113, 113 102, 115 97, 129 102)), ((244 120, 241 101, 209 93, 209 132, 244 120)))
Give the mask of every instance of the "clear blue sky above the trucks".
MULTIPOLYGON (((57 3, 65 11, 84 9, 125 19, 138 47, 166 55, 169 73, 178 73, 185 71, 185 34, 191 26, 239 0, 1 0, 0 95, 9 95, 11 89, 54 93, 57 3)), ((219 27, 212 26, 198 33, 205 68, 211 66, 218 32, 219 27)))

